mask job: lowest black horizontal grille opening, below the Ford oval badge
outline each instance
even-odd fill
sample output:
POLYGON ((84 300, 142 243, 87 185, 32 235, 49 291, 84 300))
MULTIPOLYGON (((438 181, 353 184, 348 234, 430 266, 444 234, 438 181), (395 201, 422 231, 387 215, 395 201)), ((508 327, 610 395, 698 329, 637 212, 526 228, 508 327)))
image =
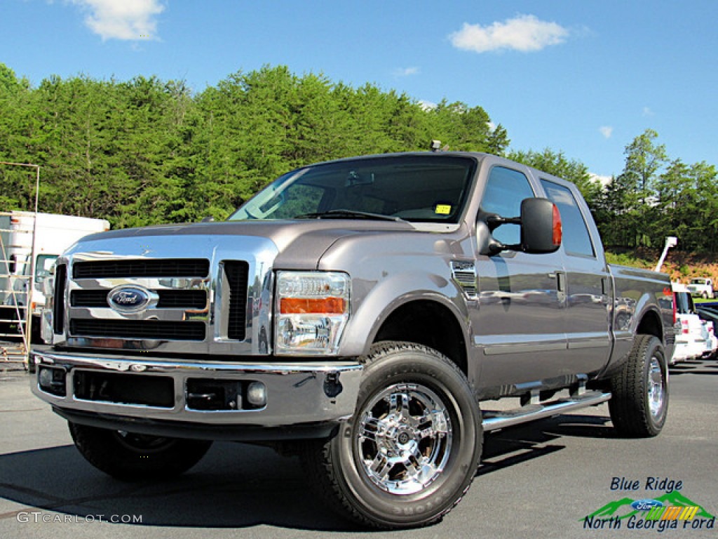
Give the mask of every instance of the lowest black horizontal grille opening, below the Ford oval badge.
POLYGON ((75 337, 204 341, 205 327, 204 322, 75 319, 70 321, 70 335, 75 337))

